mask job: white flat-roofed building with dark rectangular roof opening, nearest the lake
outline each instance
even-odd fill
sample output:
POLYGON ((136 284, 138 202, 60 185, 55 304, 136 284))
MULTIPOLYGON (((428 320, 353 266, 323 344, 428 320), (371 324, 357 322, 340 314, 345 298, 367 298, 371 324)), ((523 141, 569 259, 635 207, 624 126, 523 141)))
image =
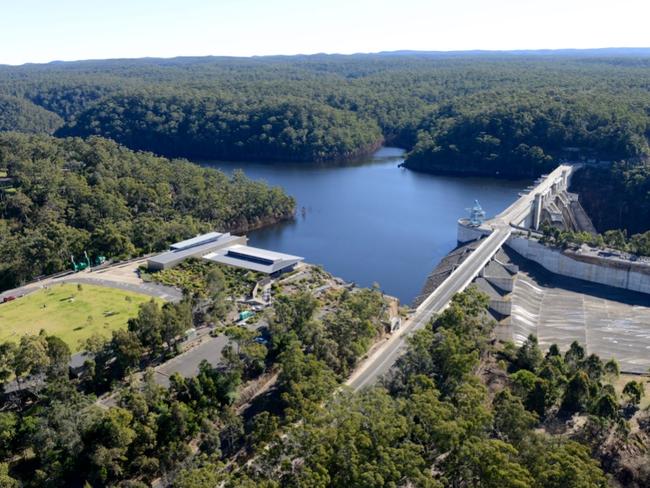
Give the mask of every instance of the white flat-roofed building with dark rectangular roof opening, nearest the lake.
POLYGON ((277 275, 289 271, 303 261, 300 256, 267 251, 256 247, 235 245, 203 256, 203 259, 228 266, 277 275))

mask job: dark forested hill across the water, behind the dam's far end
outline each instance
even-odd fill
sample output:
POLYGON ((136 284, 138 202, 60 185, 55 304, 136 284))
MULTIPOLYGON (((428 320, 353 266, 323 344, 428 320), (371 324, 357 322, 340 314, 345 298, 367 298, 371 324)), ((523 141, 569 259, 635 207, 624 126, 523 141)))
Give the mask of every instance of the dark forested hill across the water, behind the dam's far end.
POLYGON ((481 93, 436 110, 406 165, 535 177, 553 169, 558 158, 639 160, 650 149, 647 114, 638 102, 613 93, 567 96, 548 89, 481 93))

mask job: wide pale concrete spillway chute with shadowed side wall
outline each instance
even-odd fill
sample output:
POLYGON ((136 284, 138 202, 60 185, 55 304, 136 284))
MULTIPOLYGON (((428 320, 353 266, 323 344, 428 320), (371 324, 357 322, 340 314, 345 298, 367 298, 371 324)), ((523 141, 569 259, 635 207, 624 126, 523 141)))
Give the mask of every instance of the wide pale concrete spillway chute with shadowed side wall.
POLYGON ((501 251, 520 268, 508 299, 511 315, 497 327, 498 336, 521 344, 530 334, 540 346, 565 351, 573 341, 587 354, 616 358, 621 370, 650 368, 650 299, 642 293, 551 273, 518 253, 501 251))

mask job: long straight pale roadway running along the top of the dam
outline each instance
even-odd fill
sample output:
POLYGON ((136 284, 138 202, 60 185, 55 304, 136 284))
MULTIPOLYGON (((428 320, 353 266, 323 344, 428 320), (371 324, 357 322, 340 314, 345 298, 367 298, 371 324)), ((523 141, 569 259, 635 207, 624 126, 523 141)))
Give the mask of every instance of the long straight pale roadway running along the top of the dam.
POLYGON ((480 245, 415 309, 404 325, 357 368, 346 384, 357 391, 387 373, 405 352, 408 336, 425 327, 433 316, 447 307, 456 293, 469 286, 508 240, 513 227, 539 227, 543 205, 558 192, 567 189, 573 170, 574 166, 558 166, 550 174, 542 176, 503 212, 480 226, 472 226, 468 220, 461 219, 458 240, 468 242, 482 239, 480 245))

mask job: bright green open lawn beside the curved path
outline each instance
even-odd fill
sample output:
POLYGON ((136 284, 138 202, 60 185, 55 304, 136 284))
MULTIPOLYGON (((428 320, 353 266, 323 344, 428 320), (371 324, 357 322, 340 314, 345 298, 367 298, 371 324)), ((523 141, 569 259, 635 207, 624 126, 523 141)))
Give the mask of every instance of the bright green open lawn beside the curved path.
MULTIPOLYGON (((48 334, 64 340, 73 352, 95 332, 109 337, 126 327, 138 306, 151 297, 103 286, 62 283, 0 304, 0 341, 16 341, 24 334, 48 334)), ((162 300, 157 300, 162 303, 162 300)))

